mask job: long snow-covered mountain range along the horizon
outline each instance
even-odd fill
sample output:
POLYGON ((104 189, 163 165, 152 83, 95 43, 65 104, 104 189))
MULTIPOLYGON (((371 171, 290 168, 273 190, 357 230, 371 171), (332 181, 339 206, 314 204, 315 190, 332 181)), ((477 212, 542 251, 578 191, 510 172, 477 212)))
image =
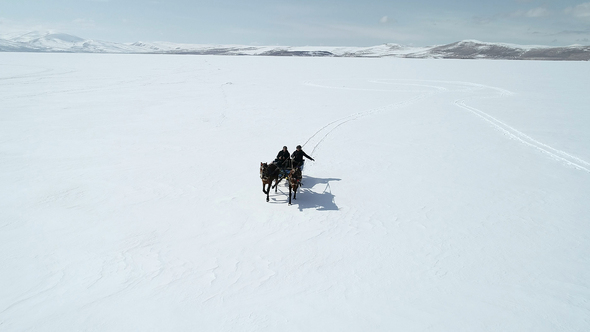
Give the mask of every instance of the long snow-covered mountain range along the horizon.
POLYGON ((144 53, 314 57, 400 57, 442 59, 590 60, 590 46, 522 46, 465 40, 448 45, 372 47, 203 45, 169 42, 115 43, 65 33, 31 32, 0 38, 2 52, 144 53))

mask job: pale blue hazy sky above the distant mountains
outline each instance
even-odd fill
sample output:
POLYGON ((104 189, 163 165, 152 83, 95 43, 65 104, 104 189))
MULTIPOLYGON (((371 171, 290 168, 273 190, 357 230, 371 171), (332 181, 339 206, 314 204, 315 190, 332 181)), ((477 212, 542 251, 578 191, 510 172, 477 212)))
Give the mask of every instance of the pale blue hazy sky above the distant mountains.
POLYGON ((477 39, 589 45, 590 2, 0 0, 0 34, 33 30, 115 42, 428 46, 477 39))

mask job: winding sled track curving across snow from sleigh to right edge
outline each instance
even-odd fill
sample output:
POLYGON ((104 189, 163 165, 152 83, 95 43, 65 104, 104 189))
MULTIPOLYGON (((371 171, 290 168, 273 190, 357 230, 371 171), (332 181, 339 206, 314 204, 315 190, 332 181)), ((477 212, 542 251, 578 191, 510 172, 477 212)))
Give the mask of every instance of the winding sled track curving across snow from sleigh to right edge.
MULTIPOLYGON (((370 110, 367 110, 364 112, 355 113, 355 114, 340 118, 338 120, 335 120, 335 121, 332 121, 332 122, 326 124, 325 126, 320 128, 318 131, 316 131, 311 137, 309 137, 307 139, 307 141, 303 144, 303 146, 309 145, 312 147, 312 151, 311 151, 312 155, 314 154, 316 149, 322 144, 322 142, 328 136, 330 136, 330 134, 334 130, 336 130, 338 127, 342 126, 343 124, 348 123, 353 120, 356 120, 358 118, 364 117, 364 116, 375 114, 375 113, 410 106, 412 104, 419 102, 420 100, 431 97, 435 94, 449 91, 450 90, 449 88, 446 88, 441 85, 447 85, 447 86, 450 85, 450 86, 454 86, 454 87, 459 88, 458 90, 455 90, 456 92, 470 93, 470 92, 474 92, 474 91, 491 90, 492 95, 483 96, 483 97, 478 96, 478 97, 457 99, 454 101, 454 104, 457 107, 467 110, 470 113, 478 116, 482 120, 488 122, 494 128, 496 128, 497 130, 499 130, 500 132, 505 134, 508 138, 517 140, 517 141, 519 141, 531 148, 534 148, 534 149, 548 155, 552 159, 561 162, 562 164, 564 164, 566 166, 570 166, 570 167, 573 167, 577 170, 581 170, 581 171, 585 171, 585 172, 590 173, 590 163, 589 162, 587 162, 581 158, 578 158, 576 156, 573 156, 565 151, 558 150, 558 149, 555 149, 547 144, 544 144, 544 143, 528 136, 527 134, 519 131, 518 129, 500 121, 499 119, 485 113, 484 111, 467 105, 468 100, 483 99, 483 98, 500 98, 500 97, 507 97, 507 96, 512 95, 512 92, 510 92, 508 90, 497 88, 497 87, 492 87, 492 86, 487 86, 487 85, 483 85, 483 84, 476 84, 476 83, 471 83, 471 82, 461 82, 461 81, 380 79, 380 80, 369 80, 368 82, 380 83, 380 84, 405 85, 405 86, 412 86, 412 87, 424 87, 429 90, 424 93, 419 94, 418 96, 415 96, 415 97, 412 97, 406 101, 403 101, 403 102, 393 103, 393 104, 385 105, 382 107, 370 109, 370 110), (411 83, 411 82, 417 82, 417 83, 411 83)), ((348 87, 330 86, 330 85, 317 84, 317 83, 311 83, 311 82, 304 82, 304 84, 307 86, 311 86, 311 87, 325 88, 325 89, 340 89, 340 90, 352 90, 352 91, 377 91, 377 92, 379 92, 379 91, 389 92, 390 91, 390 90, 386 90, 386 89, 382 90, 382 89, 364 89, 364 88, 348 88, 348 87)), ((397 91, 399 91, 399 90, 397 90, 397 91)))

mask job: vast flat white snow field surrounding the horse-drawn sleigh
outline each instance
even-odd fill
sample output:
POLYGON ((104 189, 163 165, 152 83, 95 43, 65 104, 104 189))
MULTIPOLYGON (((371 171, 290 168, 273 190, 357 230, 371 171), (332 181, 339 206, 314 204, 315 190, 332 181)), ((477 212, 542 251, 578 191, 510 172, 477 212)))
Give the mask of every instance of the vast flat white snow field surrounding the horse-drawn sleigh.
POLYGON ((0 53, 0 330, 588 331, 588 77, 0 53))

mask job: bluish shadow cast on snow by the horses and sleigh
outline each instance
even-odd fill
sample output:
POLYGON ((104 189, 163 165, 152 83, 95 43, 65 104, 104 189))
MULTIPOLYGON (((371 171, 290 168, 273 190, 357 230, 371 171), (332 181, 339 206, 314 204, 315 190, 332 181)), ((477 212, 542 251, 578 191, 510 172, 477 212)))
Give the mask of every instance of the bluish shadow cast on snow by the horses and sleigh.
MULTIPOLYGON (((340 181, 340 179, 314 178, 304 175, 301 181, 303 182, 303 186, 297 191, 297 199, 292 200, 292 204, 297 205, 299 211, 305 209, 316 209, 318 211, 338 210, 338 206, 334 201, 335 196, 332 195, 332 190, 330 188, 330 181, 340 181), (319 190, 321 190, 321 192, 318 192, 319 190)), ((283 196, 284 199, 277 199, 280 196, 274 195, 274 197, 271 197, 272 203, 287 203, 289 188, 284 186, 284 184, 285 182, 281 182, 279 185, 279 194, 280 196, 283 196)))

